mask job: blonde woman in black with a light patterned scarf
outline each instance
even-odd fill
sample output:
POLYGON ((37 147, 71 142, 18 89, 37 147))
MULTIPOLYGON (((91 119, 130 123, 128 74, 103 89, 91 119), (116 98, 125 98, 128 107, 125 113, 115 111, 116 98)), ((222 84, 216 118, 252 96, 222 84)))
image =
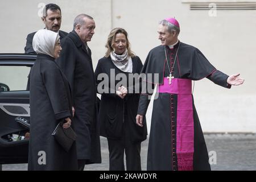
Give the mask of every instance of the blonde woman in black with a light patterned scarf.
MULTIPOLYGON (((136 114, 140 94, 135 93, 135 81, 131 80, 134 73, 140 73, 141 59, 130 49, 127 32, 123 28, 114 28, 106 43, 106 55, 98 61, 96 80, 98 93, 101 93, 98 119, 101 123, 101 136, 108 138, 109 169, 125 170, 124 152, 126 154, 126 169, 141 170, 141 142, 147 138, 147 127, 136 125, 136 114), (114 75, 112 75, 113 72, 114 75), (97 78, 101 73, 108 75, 109 82, 104 85, 105 92, 101 92, 97 78), (119 80, 115 76, 125 76, 119 89, 119 80), (129 77, 130 75, 130 77, 129 77), (112 84, 110 83, 112 82, 112 84)), ((137 90, 138 91, 138 90, 137 90)), ((146 124, 146 122, 144 122, 146 124)))

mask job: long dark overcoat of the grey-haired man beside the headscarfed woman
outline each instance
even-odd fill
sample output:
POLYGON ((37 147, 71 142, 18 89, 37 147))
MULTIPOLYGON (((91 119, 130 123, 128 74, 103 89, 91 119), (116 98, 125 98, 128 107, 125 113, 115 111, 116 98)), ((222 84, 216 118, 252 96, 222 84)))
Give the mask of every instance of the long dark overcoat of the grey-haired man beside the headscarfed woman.
POLYGON ((101 163, 100 125, 97 123, 96 82, 91 51, 73 30, 61 39, 61 51, 57 64, 67 76, 75 107, 74 129, 77 134, 77 158, 86 164, 101 163))

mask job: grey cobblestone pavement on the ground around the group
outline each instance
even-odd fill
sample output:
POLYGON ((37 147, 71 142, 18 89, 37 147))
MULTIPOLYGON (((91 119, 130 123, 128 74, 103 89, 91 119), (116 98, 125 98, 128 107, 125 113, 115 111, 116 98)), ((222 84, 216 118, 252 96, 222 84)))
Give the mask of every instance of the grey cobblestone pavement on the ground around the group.
MULTIPOLYGON (((256 170, 256 134, 205 134, 213 171, 256 170), (215 158, 216 157, 216 158, 215 158)), ((142 142, 142 170, 146 170, 148 139, 142 142)), ((108 142, 101 138, 101 164, 85 166, 85 171, 108 171, 108 142)), ((27 170, 27 164, 6 164, 3 171, 27 170)))

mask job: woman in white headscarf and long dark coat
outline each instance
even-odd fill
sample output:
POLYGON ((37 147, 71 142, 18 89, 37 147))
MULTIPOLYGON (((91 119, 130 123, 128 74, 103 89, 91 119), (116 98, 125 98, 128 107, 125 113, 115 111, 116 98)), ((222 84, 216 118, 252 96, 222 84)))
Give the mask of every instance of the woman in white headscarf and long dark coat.
POLYGON ((68 81, 55 62, 61 51, 59 34, 39 30, 32 44, 38 56, 30 74, 28 170, 77 170, 75 142, 66 152, 51 135, 58 123, 67 129, 73 119, 68 81))

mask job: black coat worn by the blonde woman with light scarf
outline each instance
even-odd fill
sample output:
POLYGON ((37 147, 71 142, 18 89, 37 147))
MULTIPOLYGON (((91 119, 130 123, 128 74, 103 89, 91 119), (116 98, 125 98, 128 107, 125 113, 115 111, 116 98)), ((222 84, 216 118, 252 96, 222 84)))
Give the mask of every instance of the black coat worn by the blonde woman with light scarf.
MULTIPOLYGON (((143 66, 141 59, 136 56, 132 57, 132 61, 133 73, 139 74, 143 66)), ((98 113, 98 119, 101 123, 100 134, 102 137, 107 137, 110 139, 121 139, 124 132, 127 132, 132 142, 142 142, 147 138, 146 119, 144 120, 143 127, 140 127, 136 124, 136 115, 140 93, 134 93, 135 90, 133 84, 135 81, 138 82, 139 80, 138 78, 133 78, 133 82, 131 82, 131 78, 129 80, 129 74, 132 73, 123 72, 115 67, 110 56, 103 57, 98 61, 95 71, 98 93, 101 92, 101 88, 105 88, 105 90, 108 90, 109 92, 102 93, 101 95, 100 110, 98 113), (112 73, 110 73, 111 71, 112 73), (97 80, 101 73, 105 73, 105 76, 109 77, 109 81, 106 81, 108 84, 104 86, 102 86, 102 83, 100 84, 101 80, 97 80), (127 83, 123 86, 125 86, 127 90, 130 90, 124 99, 118 97, 115 94, 115 86, 120 80, 115 81, 114 77, 119 73, 125 74, 127 83), (112 77, 110 77, 110 75, 112 77), (112 86, 110 86, 110 80, 114 80, 114 84, 112 86)))

